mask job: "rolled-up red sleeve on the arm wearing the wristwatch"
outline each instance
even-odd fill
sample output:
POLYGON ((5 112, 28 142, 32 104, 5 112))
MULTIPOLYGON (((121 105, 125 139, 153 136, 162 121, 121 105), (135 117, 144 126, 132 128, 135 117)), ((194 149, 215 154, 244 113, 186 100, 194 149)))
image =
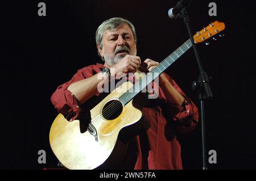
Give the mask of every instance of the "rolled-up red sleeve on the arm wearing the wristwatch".
POLYGON ((51 96, 53 106, 68 121, 79 119, 81 113, 81 105, 79 105, 79 101, 76 99, 75 95, 68 90, 69 85, 74 82, 81 81, 82 79, 91 77, 95 72, 98 71, 100 71, 100 68, 98 68, 96 65, 87 66, 80 69, 75 75, 73 75, 70 81, 58 86, 55 92, 53 92, 51 96))

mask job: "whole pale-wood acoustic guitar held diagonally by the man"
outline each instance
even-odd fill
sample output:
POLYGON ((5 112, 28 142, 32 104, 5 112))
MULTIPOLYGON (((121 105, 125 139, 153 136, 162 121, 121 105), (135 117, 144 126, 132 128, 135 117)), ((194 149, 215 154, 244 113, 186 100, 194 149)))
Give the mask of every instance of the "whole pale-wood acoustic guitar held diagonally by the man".
MULTIPOLYGON (((193 40, 201 43, 224 29, 224 23, 210 23, 197 32, 193 40)), ((142 112, 133 106, 134 96, 191 47, 189 39, 152 70, 150 75, 144 75, 135 84, 125 82, 106 96, 90 110, 91 121, 84 133, 80 131, 79 120, 69 122, 63 115, 57 115, 49 132, 51 149, 57 159, 67 169, 95 169, 102 165, 112 153, 121 129, 142 117, 142 112)))

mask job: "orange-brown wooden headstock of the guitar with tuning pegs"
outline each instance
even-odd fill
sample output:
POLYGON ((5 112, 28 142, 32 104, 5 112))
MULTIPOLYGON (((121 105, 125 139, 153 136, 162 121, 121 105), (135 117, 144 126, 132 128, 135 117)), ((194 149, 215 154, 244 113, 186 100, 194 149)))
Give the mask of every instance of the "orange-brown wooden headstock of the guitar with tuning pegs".
POLYGON ((201 43, 210 37, 217 35, 221 31, 225 30, 225 24, 222 22, 215 21, 210 23, 207 27, 203 28, 201 31, 197 31, 193 36, 195 43, 201 43))

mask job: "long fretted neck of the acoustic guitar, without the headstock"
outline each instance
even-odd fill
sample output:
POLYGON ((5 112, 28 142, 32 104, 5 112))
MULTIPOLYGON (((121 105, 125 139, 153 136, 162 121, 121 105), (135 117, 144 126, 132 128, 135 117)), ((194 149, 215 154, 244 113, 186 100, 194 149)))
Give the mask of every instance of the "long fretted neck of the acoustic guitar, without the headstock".
POLYGON ((133 87, 122 94, 118 99, 123 104, 126 105, 134 98, 139 92, 147 87, 156 77, 164 72, 172 63, 174 63, 177 58, 179 58, 183 53, 185 53, 189 48, 192 47, 191 40, 188 39, 183 45, 177 48, 170 56, 166 57, 154 70, 148 73, 140 81, 136 82, 133 87))

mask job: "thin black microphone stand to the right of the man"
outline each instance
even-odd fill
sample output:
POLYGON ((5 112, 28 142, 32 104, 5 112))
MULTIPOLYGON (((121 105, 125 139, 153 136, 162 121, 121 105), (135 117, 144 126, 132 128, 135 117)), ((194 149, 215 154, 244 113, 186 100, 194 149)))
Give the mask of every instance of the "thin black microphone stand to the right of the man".
POLYGON ((185 24, 185 26, 187 27, 188 30, 188 34, 189 37, 191 39, 191 43, 192 43, 192 47, 193 50, 195 52, 195 56, 196 56, 196 61, 197 61, 197 65, 199 66, 199 70, 200 70, 200 74, 199 74, 199 78, 197 81, 193 81, 192 83, 192 90, 193 91, 198 91, 198 98, 200 100, 201 103, 201 133, 202 133, 202 146, 203 146, 203 170, 208 170, 207 168, 207 157, 206 157, 206 146, 205 146, 205 117, 204 117, 204 102, 207 99, 212 99, 213 95, 212 95, 212 91, 210 90, 210 86, 209 86, 209 78, 207 73, 204 71, 203 69, 203 65, 201 64, 201 60, 200 60, 200 56, 196 47, 196 44, 193 40, 193 34, 191 31, 191 25, 190 25, 190 20, 189 20, 189 15, 187 10, 184 8, 179 16, 179 18, 183 19, 183 22, 185 24))

